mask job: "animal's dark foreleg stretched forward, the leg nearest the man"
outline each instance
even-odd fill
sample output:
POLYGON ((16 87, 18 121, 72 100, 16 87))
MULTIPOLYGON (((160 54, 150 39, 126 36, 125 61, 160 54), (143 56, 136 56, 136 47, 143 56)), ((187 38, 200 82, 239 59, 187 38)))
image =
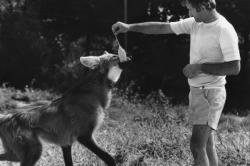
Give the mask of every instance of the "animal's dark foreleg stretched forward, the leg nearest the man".
POLYGON ((102 150, 95 142, 92 136, 81 136, 78 137, 78 141, 85 147, 100 157, 108 166, 116 166, 115 160, 107 152, 102 150))

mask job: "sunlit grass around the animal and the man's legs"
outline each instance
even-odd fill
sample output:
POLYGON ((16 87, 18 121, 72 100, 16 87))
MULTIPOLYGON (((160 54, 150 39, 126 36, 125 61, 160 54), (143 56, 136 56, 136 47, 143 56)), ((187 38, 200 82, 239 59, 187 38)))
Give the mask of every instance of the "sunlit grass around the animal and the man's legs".
MULTIPOLYGON (((31 88, 19 91, 3 86, 0 88, 0 109, 6 111, 20 104, 13 99, 32 102, 52 100, 57 96, 49 91, 31 88)), ((191 126, 187 114, 187 105, 172 106, 167 98, 158 93, 143 101, 137 97, 128 99, 126 95, 116 92, 95 137, 98 144, 115 156, 122 166, 190 166, 193 159, 189 149, 191 126)), ((216 143, 222 165, 250 165, 248 126, 248 117, 221 117, 216 143)), ((58 146, 44 142, 43 147, 38 166, 63 165, 62 152, 58 146)), ((72 154, 76 166, 104 165, 78 143, 73 145, 72 154)), ((1 166, 7 164, 0 162, 1 166)))

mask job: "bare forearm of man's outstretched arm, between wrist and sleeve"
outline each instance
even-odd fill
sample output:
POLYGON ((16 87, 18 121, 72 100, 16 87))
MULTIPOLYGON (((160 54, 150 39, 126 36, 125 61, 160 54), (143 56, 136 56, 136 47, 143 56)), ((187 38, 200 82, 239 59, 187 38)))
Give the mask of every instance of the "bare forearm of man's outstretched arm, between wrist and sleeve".
POLYGON ((144 22, 129 24, 129 31, 144 34, 168 34, 173 33, 169 23, 165 22, 144 22))

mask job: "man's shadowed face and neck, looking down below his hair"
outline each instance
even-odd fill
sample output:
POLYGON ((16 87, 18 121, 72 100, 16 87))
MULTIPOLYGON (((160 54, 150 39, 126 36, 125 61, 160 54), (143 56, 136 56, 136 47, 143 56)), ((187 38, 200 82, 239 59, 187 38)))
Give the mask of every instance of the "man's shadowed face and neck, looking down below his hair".
POLYGON ((199 11, 194 8, 188 1, 186 2, 189 17, 194 17, 196 22, 203 22, 205 19, 205 8, 201 7, 199 11))

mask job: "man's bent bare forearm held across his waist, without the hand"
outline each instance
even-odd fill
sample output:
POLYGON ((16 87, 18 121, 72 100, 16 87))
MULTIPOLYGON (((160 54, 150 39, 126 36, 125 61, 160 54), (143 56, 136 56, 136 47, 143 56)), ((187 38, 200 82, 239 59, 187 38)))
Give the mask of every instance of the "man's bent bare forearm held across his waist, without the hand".
POLYGON ((224 63, 205 63, 201 64, 202 73, 211 75, 237 75, 240 72, 240 61, 231 61, 224 63))

